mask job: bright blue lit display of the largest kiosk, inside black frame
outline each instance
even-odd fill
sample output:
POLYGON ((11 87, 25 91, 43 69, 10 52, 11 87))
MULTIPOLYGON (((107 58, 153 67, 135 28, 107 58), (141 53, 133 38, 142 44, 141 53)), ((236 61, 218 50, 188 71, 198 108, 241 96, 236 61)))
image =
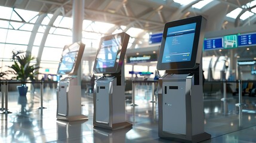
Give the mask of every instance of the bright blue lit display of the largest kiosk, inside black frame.
POLYGON ((194 43, 196 23, 169 27, 162 63, 190 61, 194 43))

